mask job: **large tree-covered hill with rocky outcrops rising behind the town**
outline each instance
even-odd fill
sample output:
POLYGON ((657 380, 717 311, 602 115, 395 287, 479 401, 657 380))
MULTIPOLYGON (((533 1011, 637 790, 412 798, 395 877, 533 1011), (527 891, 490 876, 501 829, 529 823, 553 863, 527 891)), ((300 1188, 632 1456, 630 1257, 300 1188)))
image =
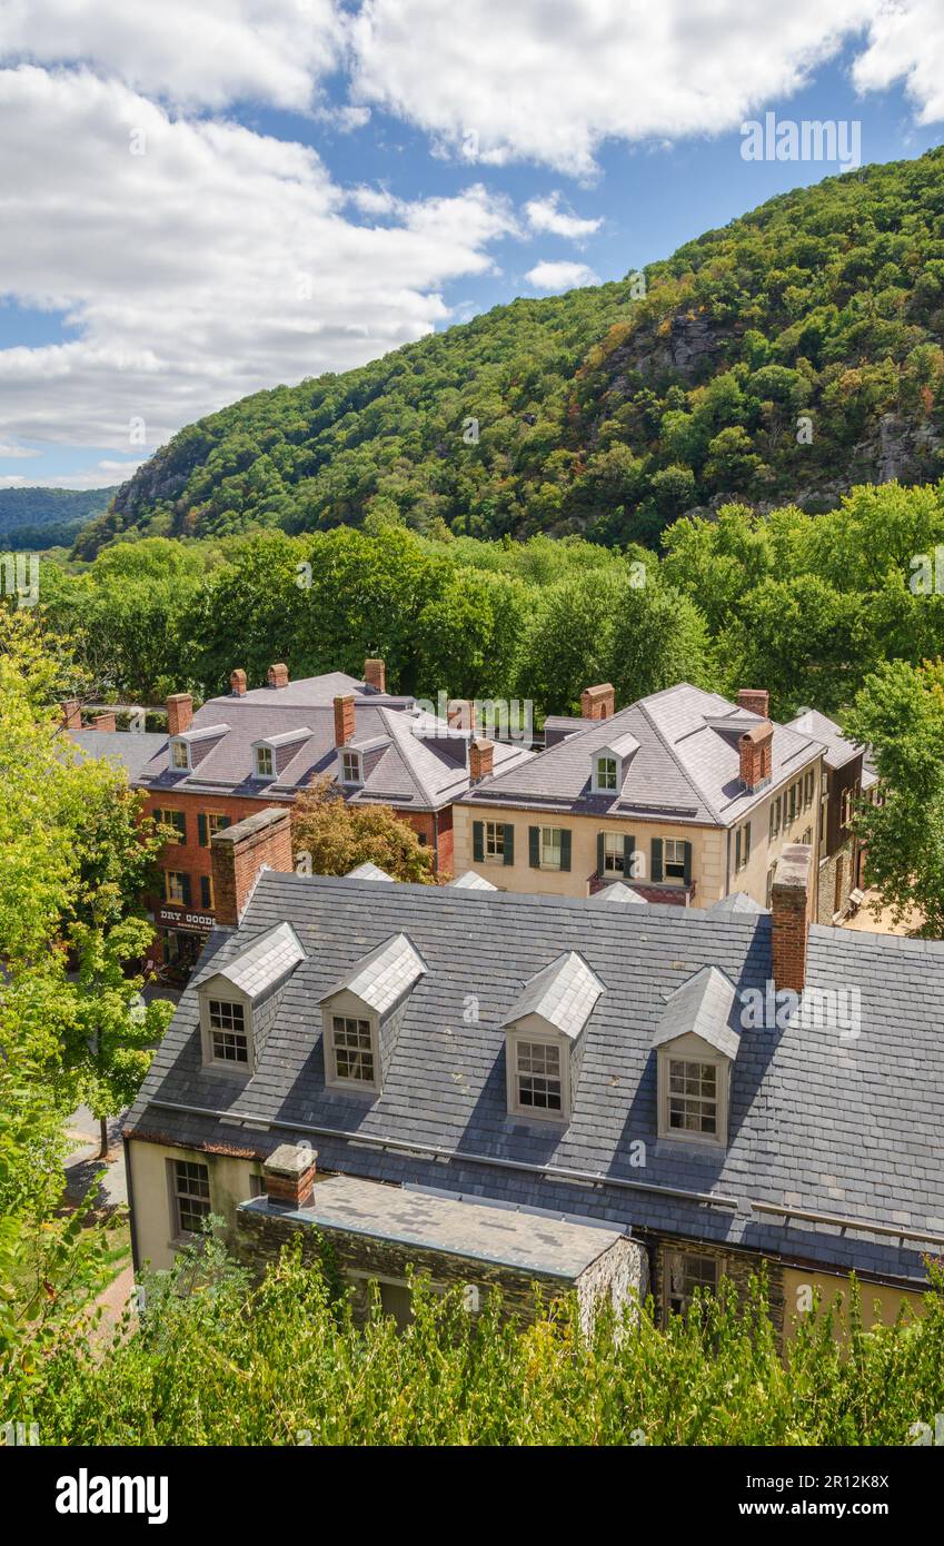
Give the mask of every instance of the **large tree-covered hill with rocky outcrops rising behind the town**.
POLYGON ((944 150, 797 189, 638 280, 518 300, 193 424, 82 535, 399 519, 655 541, 944 473, 944 150))

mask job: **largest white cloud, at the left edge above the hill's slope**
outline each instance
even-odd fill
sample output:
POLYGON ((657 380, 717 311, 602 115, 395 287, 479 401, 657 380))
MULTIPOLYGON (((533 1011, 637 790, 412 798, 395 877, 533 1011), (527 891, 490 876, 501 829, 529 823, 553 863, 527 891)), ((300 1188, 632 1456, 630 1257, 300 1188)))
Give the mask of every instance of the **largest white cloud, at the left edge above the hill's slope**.
POLYGON ((442 288, 514 229, 480 186, 357 224, 314 150, 87 71, 0 71, 0 144, 5 292, 79 329, 0 351, 5 439, 150 451, 246 393, 362 365, 447 320, 442 288))

